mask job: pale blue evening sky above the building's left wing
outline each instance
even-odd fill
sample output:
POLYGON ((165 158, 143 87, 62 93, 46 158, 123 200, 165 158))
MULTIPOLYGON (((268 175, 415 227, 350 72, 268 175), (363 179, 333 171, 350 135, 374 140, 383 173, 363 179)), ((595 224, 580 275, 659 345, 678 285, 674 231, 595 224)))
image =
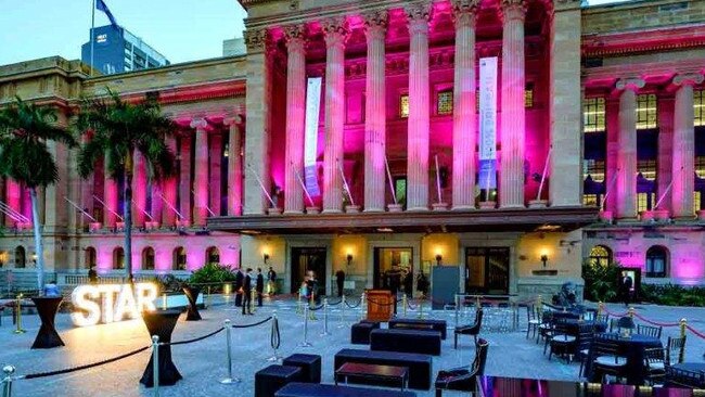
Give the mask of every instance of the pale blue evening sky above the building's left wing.
MULTIPOLYGON (((615 0, 589 0, 590 4, 615 0)), ((630 1, 630 0, 627 0, 630 1)), ((0 0, 0 65, 61 55, 80 59, 93 0, 0 0)), ((117 23, 171 63, 217 57, 222 40, 242 37, 238 0, 105 0, 117 23)), ((108 24, 95 12, 95 26, 108 24)))

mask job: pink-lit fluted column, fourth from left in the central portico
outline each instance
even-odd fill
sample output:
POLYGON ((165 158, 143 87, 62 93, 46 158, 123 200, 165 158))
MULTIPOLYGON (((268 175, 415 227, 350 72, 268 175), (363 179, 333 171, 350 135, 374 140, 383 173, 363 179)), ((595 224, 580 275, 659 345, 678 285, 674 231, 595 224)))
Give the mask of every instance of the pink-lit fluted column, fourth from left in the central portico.
POLYGON ((409 120, 407 209, 428 209, 428 17, 431 5, 405 9, 409 22, 409 120))

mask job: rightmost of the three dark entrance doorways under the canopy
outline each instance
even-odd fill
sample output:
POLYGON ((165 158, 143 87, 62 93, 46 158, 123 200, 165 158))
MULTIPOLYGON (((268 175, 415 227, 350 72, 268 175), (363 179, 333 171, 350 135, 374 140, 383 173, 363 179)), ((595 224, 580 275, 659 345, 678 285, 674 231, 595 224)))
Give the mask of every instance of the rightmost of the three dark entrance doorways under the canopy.
POLYGON ((465 248, 465 293, 509 293, 510 258, 507 247, 465 248))

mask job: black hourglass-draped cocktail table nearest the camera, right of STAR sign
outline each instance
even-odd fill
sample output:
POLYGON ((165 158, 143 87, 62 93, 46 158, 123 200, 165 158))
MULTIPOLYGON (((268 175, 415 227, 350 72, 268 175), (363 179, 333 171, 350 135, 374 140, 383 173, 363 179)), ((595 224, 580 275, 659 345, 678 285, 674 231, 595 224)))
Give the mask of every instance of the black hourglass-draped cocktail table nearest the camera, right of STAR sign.
MULTIPOLYGON (((181 316, 181 310, 157 310, 144 312, 142 318, 144 319, 146 329, 150 331, 150 336, 157 335, 159 336, 159 343, 170 343, 171 333, 179 320, 179 316, 181 316)), ((142 374, 142 379, 140 380, 140 383, 146 387, 154 386, 153 359, 153 356, 150 357, 150 363, 144 369, 144 374, 142 374)), ((179 370, 174 364, 174 361, 171 361, 171 346, 159 346, 159 385, 170 386, 181 379, 182 376, 179 370)))

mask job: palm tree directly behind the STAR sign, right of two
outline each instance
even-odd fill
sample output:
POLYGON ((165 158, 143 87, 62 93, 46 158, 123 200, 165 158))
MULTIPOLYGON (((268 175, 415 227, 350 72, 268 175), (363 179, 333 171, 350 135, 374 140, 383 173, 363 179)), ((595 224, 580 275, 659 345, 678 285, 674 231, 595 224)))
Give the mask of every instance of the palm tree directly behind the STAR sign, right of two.
POLYGON ((140 152, 151 180, 159 181, 175 175, 175 155, 166 139, 176 124, 162 114, 154 100, 126 102, 116 92, 106 98, 86 99, 75 119, 75 128, 88 139, 78 153, 78 172, 86 178, 104 159, 107 177, 124 180, 125 269, 132 282, 132 158, 140 152))

